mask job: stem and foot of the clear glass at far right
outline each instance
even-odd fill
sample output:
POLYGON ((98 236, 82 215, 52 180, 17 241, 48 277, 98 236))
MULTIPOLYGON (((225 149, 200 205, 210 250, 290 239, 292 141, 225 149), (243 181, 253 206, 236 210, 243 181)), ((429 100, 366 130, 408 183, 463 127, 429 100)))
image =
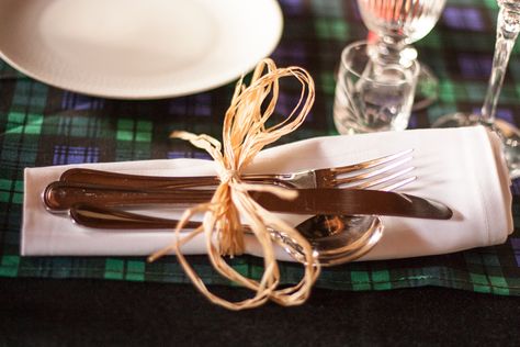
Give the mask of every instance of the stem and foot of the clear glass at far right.
POLYGON ((509 57, 520 32, 520 0, 498 0, 497 41, 493 58, 491 75, 481 114, 455 113, 440 117, 434 127, 454 127, 483 124, 495 131, 502 139, 504 154, 511 178, 520 177, 520 131, 502 120, 496 119, 496 110, 504 83, 509 57))

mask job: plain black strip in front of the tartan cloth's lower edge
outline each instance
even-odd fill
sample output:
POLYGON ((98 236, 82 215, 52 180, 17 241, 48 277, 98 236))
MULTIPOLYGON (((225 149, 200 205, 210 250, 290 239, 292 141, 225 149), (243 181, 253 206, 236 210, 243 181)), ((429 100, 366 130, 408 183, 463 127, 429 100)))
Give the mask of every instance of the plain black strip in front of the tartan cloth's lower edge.
MULTIPOLYGON (((315 289, 231 312, 191 284, 0 279, 0 346, 518 346, 520 300, 444 288, 315 289), (36 344, 37 343, 37 344, 36 344)), ((229 299, 247 292, 214 287, 229 299)))

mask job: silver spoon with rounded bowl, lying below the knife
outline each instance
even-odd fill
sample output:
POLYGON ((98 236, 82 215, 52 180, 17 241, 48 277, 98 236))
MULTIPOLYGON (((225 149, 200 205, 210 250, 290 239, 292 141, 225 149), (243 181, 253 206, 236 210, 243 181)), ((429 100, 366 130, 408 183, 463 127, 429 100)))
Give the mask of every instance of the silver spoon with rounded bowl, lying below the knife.
MULTIPOLYGON (((177 220, 160 219, 129 213, 106 206, 78 204, 70 209, 69 215, 79 225, 114 230, 173 230, 177 220)), ((195 228, 199 222, 188 222, 185 228, 195 228)), ((247 225, 246 233, 250 233, 247 225)), ((323 266, 334 266, 352 261, 372 249, 383 235, 383 224, 374 215, 318 215, 313 216, 296 230, 310 243, 323 266)), ((286 234, 268 230, 295 260, 305 261, 302 247, 286 234)))

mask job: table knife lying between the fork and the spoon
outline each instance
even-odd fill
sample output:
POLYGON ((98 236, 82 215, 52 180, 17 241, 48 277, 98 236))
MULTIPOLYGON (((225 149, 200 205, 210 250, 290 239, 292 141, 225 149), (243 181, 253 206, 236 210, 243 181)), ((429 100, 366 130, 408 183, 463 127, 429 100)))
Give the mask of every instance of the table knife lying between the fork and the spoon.
MULTIPOLYGON (((453 212, 446 205, 411 194, 357 189, 296 189, 294 200, 284 200, 269 192, 251 191, 263 208, 294 214, 378 214, 419 219, 449 220, 453 212)), ((77 203, 108 206, 146 204, 194 204, 207 202, 214 190, 148 190, 112 186, 56 181, 43 193, 50 212, 68 211, 77 203)))

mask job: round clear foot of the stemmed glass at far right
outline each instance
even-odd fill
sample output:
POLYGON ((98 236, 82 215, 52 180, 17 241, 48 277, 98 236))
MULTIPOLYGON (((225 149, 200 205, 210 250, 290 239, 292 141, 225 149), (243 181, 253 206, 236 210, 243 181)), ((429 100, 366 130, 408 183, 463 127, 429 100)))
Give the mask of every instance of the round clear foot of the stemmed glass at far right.
POLYGON ((504 121, 495 120, 493 123, 482 123, 476 114, 454 113, 441 116, 433 122, 432 127, 460 127, 482 124, 494 131, 502 142, 502 154, 506 160, 509 177, 520 178, 520 130, 504 121))

